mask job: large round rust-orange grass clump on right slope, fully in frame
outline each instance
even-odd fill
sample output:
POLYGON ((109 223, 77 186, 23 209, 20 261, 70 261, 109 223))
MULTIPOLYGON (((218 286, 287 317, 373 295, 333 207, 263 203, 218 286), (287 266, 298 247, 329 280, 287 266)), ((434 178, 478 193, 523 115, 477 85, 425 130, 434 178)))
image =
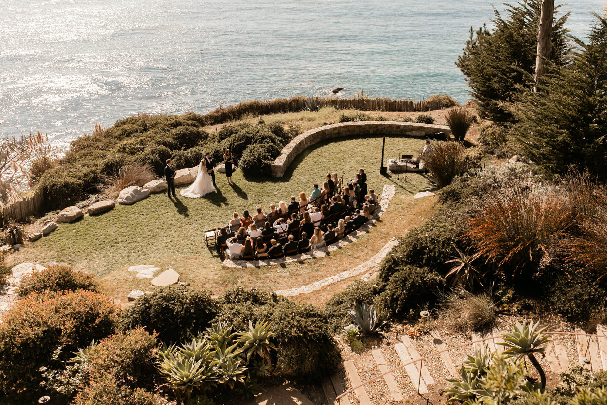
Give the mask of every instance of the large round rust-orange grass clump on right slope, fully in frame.
POLYGON ((571 223, 569 203, 554 186, 505 189, 475 211, 466 236, 476 251, 510 276, 538 264, 571 223))

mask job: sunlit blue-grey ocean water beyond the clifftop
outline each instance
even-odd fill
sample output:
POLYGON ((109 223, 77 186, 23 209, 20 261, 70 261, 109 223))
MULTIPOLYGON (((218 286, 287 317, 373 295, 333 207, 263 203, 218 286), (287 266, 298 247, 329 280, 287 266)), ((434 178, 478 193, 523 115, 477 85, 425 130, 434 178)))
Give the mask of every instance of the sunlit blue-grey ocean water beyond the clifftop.
MULTIPOLYGON (((558 2, 557 2, 558 3, 558 2)), ((498 9, 503 5, 495 3, 498 9)), ((0 0, 0 136, 56 143, 138 112, 291 95, 466 101, 454 61, 489 2, 0 0)), ((603 0, 569 0, 584 36, 603 0)))

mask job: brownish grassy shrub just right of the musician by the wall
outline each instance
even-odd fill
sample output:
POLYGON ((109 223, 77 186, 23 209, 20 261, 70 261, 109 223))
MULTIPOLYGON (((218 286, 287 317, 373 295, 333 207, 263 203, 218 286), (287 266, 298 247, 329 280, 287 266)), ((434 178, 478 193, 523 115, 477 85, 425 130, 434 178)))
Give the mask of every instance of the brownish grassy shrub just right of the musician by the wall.
POLYGON ((455 177, 470 168, 466 148, 459 142, 430 141, 421 158, 438 188, 450 185, 455 177))

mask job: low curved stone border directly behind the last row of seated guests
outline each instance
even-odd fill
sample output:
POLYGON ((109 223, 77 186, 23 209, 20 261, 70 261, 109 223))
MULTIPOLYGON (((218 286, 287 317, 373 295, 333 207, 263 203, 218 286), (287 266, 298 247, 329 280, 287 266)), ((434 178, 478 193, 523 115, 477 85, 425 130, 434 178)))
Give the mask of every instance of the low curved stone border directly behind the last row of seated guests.
POLYGON ((281 257, 280 259, 231 260, 229 259, 229 257, 226 257, 226 259, 223 260, 222 267, 255 268, 262 266, 279 265, 283 263, 302 262, 308 259, 316 259, 317 257, 325 257, 327 256, 327 253, 336 251, 337 249, 341 249, 348 243, 356 242, 356 240, 358 240, 360 236, 367 233, 369 228, 373 226, 376 220, 378 220, 379 217, 381 217, 382 214, 385 213, 385 210, 388 209, 388 205, 390 205, 390 201, 392 201, 392 197, 394 197, 395 189, 395 185, 384 185, 384 189, 382 190, 381 196, 379 197, 379 207, 375 209, 375 212, 373 213, 373 219, 367 221, 367 223, 358 228, 357 231, 348 234, 344 239, 339 240, 339 242, 331 243, 331 245, 328 245, 328 247, 320 248, 319 250, 315 250, 307 254, 296 254, 294 256, 281 257))

